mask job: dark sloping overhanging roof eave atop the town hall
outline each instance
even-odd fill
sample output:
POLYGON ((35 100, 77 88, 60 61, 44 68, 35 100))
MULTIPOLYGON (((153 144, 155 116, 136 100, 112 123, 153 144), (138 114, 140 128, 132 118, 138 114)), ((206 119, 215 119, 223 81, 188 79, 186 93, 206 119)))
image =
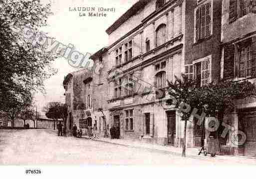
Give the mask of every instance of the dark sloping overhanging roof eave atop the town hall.
POLYGON ((140 9, 142 9, 150 0, 138 0, 131 8, 129 8, 121 17, 119 17, 108 29, 107 34, 111 34, 116 28, 122 25, 131 16, 136 14, 140 9))

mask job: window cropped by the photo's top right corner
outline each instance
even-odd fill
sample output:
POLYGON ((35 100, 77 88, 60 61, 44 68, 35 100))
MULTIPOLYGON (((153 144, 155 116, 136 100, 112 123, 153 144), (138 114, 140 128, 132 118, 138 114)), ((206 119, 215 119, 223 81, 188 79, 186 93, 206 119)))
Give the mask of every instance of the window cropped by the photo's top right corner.
POLYGON ((256 0, 230 0, 229 21, 234 22, 236 19, 256 13, 256 0))

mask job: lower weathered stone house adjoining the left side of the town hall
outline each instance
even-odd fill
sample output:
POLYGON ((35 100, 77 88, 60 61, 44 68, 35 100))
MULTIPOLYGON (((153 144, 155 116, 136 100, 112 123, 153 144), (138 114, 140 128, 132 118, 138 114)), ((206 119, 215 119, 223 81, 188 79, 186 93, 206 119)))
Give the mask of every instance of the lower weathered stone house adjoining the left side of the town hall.
POLYGON ((107 47, 90 57, 95 65, 92 70, 80 70, 68 74, 63 82, 68 107, 67 129, 76 124, 87 135, 88 126, 95 124, 100 135, 109 129, 107 110, 107 47), (105 124, 106 123, 106 124, 105 124))

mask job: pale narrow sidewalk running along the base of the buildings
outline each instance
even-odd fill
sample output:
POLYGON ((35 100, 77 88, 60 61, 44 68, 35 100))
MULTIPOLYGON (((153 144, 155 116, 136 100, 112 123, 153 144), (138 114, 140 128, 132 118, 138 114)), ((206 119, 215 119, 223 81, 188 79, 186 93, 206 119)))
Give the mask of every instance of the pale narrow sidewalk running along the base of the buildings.
MULTIPOLYGON (((83 136, 85 139, 89 139, 88 136, 83 136)), ((104 142, 114 145, 119 145, 123 147, 130 147, 136 149, 144 149, 152 152, 160 152, 165 154, 171 154, 175 156, 181 156, 182 148, 177 148, 173 146, 161 146, 155 144, 142 143, 140 141, 132 141, 132 140, 123 140, 123 139, 109 139, 109 138, 99 138, 94 139, 94 141, 104 142)), ((189 158, 199 159, 199 160, 218 160, 219 162, 230 163, 230 164, 255 164, 256 158, 252 157, 244 157, 244 156, 216 156, 214 158, 210 157, 208 154, 204 156, 204 154, 198 155, 200 149, 199 148, 188 148, 186 149, 186 156, 189 158)))

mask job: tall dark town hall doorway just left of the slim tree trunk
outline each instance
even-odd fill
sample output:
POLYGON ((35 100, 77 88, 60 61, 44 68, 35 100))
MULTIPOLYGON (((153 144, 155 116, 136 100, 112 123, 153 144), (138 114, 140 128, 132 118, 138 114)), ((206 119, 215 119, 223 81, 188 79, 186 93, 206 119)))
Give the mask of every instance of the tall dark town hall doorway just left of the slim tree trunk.
POLYGON ((168 112, 167 113, 167 138, 168 144, 174 145, 176 137, 176 113, 168 112))

